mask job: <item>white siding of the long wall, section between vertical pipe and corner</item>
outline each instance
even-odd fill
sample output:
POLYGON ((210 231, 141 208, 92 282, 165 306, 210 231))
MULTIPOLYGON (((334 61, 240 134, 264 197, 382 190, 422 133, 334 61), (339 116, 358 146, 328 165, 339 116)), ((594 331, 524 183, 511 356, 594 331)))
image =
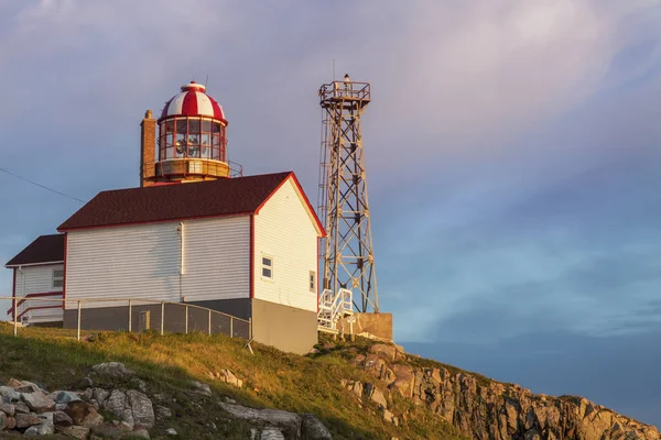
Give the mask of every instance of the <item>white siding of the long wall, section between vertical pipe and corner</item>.
POLYGON ((250 217, 184 222, 186 301, 250 296, 250 217))

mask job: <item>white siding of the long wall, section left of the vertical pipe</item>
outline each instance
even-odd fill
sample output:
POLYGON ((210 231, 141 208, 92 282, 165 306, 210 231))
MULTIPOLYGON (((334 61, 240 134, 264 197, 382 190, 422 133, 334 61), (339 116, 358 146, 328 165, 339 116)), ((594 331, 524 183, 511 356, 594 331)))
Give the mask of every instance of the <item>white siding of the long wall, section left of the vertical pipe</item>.
MULTIPOLYGON (((165 222, 69 231, 66 299, 178 301, 177 228, 178 222, 165 222)), ((73 302, 66 305, 67 309, 75 307, 73 302)))

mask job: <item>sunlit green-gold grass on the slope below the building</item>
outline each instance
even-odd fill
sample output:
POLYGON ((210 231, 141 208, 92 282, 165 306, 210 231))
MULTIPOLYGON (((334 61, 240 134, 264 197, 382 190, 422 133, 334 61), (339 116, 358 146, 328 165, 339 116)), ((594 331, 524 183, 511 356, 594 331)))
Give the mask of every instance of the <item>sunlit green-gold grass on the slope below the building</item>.
POLYGON ((172 427, 182 439, 250 438, 249 425, 228 418, 218 405, 218 397, 207 398, 191 391, 189 381, 196 380, 239 404, 312 413, 336 439, 462 438, 440 417, 403 398, 393 398, 390 410, 395 416, 408 411, 407 421, 400 427, 384 422, 375 405, 360 402, 340 386, 343 378, 378 383, 348 362, 367 352, 372 343, 369 340, 326 344, 326 348, 321 344, 317 355, 300 356, 254 343, 253 355, 243 348, 245 341, 198 333, 102 332, 90 342, 77 342, 75 333, 67 330, 22 328, 19 336, 13 338, 11 326, 0 324, 0 381, 17 377, 48 389, 71 389, 91 365, 123 362, 147 383, 154 405, 166 406, 173 413, 172 419, 154 428, 152 435, 156 436, 172 427), (214 378, 214 373, 223 369, 243 380, 243 388, 214 378))

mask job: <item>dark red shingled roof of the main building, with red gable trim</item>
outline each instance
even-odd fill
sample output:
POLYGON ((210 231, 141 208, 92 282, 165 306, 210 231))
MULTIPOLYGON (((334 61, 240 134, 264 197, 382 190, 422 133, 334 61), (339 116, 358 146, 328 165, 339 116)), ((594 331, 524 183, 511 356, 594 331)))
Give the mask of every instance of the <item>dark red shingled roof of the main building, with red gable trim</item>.
MULTIPOLYGON (((259 211, 290 176, 303 194, 292 172, 102 191, 57 230, 251 215, 259 211)), ((314 210, 307 199, 305 201, 323 234, 314 210)))

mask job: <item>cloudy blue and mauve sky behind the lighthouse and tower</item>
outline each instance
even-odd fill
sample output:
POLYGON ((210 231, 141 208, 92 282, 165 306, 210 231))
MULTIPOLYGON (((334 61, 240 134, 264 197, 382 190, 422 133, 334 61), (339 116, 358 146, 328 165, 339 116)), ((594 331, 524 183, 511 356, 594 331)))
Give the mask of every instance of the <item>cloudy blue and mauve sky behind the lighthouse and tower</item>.
MULTIPOLYGON (((661 426, 659 0, 0 0, 0 167, 84 200, 137 186, 144 111, 195 79, 229 160, 316 200, 334 65, 371 84, 395 340, 661 426)), ((2 262, 80 207, 0 188, 2 262)))

